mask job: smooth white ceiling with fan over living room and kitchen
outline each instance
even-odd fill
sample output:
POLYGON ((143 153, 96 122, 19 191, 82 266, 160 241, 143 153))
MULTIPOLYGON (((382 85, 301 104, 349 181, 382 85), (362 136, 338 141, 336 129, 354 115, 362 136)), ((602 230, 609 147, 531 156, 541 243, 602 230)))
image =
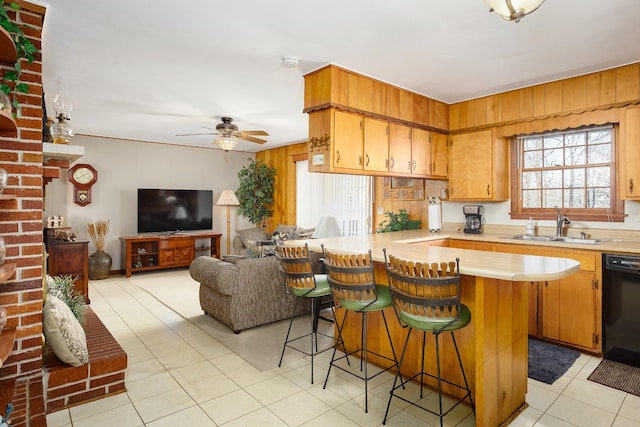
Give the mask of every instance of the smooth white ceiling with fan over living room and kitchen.
POLYGON ((520 23, 482 0, 51 0, 49 116, 62 77, 76 133, 207 146, 221 116, 305 141, 303 75, 333 63, 447 103, 640 61, 638 0, 547 0, 520 23), (299 66, 282 65, 283 56, 299 66))

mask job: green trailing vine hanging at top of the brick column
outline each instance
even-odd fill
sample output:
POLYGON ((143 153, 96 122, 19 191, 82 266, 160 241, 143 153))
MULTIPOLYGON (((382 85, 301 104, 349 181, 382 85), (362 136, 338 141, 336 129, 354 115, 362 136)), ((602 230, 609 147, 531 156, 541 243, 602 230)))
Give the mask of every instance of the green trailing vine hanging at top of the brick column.
POLYGON ((20 108, 18 93, 29 93, 29 85, 20 81, 20 76, 22 75, 20 62, 22 59, 26 59, 27 62, 31 64, 35 59, 34 55, 38 52, 38 49, 36 49, 31 40, 25 37, 20 25, 9 17, 9 11, 18 11, 20 10, 20 6, 14 2, 7 4, 4 0, 0 1, 2 1, 2 7, 0 7, 0 26, 9 33, 13 39, 13 43, 16 45, 18 53, 18 59, 16 63, 13 64, 13 68, 6 70, 2 79, 0 79, 0 91, 10 96, 14 111, 13 115, 15 116, 16 111, 20 108))

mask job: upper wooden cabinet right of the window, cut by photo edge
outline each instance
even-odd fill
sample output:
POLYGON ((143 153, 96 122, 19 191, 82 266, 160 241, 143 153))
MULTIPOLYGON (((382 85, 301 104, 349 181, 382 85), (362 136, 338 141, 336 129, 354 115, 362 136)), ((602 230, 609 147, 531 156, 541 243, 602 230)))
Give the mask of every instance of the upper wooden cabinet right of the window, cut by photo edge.
POLYGON ((627 107, 624 114, 622 139, 622 170, 620 188, 622 198, 640 199, 640 107, 627 107))

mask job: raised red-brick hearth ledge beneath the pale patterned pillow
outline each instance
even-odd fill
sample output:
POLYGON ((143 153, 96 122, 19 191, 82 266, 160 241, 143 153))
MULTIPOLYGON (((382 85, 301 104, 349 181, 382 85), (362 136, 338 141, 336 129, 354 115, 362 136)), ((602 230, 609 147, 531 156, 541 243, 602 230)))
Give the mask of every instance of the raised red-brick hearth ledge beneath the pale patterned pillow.
POLYGON ((69 366, 53 351, 43 357, 46 413, 126 391, 127 353, 90 307, 86 318, 88 364, 69 366))

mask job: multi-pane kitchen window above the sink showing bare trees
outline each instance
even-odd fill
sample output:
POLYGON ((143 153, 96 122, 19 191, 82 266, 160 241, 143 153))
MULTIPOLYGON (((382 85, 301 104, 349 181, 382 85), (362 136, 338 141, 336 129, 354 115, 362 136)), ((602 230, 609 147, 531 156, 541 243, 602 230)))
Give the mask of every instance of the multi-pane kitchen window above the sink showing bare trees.
POLYGON ((518 137, 512 218, 549 218, 558 207, 576 219, 622 221, 614 136, 607 125, 518 137))

